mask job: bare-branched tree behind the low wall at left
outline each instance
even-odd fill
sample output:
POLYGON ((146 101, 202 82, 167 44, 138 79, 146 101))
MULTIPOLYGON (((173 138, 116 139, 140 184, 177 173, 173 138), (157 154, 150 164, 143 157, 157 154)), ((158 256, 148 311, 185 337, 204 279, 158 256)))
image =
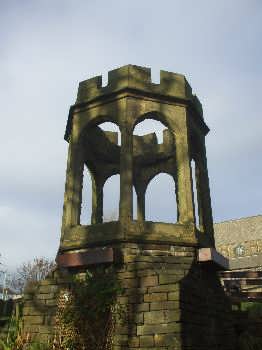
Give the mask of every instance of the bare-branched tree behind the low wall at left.
POLYGON ((33 261, 23 263, 13 275, 9 276, 8 285, 16 292, 23 293, 27 283, 43 280, 55 266, 52 260, 34 258, 33 261))

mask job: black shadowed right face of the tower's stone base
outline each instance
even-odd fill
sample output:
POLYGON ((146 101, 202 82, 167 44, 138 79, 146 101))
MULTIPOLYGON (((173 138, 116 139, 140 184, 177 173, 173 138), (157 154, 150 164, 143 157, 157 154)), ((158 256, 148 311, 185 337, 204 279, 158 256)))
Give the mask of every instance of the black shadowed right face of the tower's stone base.
POLYGON ((193 262, 179 290, 182 349, 235 349, 231 303, 214 266, 193 262))

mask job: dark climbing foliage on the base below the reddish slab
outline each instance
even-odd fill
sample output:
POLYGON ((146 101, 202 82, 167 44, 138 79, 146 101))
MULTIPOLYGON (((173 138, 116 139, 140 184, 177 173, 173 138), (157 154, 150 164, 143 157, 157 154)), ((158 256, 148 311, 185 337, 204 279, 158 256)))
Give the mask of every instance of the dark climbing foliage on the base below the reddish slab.
POLYGON ((87 270, 73 278, 61 293, 57 312, 57 337, 61 349, 111 349, 118 319, 125 317, 117 296, 123 289, 113 268, 87 270))

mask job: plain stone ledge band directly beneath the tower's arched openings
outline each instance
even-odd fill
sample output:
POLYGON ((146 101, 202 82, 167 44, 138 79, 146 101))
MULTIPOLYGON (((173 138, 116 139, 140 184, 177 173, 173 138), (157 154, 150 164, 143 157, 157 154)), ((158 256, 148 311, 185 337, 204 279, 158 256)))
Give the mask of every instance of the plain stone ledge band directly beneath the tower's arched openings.
POLYGON ((131 221, 122 225, 115 221, 67 228, 60 243, 60 252, 112 242, 197 245, 194 224, 131 221))

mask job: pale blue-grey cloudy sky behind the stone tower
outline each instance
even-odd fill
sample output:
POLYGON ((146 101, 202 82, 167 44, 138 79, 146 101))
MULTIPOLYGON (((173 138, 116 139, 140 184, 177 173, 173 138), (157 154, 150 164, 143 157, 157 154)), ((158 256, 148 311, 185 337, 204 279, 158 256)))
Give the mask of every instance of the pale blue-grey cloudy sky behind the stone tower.
MULTIPOLYGON (((0 1, 0 253, 6 266, 55 256, 63 134, 78 82, 103 74, 106 84, 108 70, 128 63, 151 67, 154 82, 160 69, 183 73, 199 96, 211 129, 215 221, 262 214, 261 23, 260 0, 0 1)), ((165 205, 156 200, 170 193, 168 186, 152 183, 148 217, 173 215, 172 198, 165 205)), ((108 215, 116 188, 113 182, 106 189, 108 215)))

